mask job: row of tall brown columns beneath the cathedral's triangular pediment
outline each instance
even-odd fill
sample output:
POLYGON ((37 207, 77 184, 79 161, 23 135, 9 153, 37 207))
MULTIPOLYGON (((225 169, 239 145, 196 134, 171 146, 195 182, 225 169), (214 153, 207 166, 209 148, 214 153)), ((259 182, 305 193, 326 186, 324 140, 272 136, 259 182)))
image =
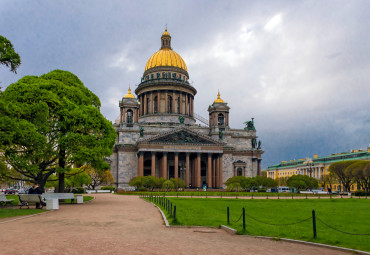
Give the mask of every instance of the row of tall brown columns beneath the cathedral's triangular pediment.
POLYGON ((206 184, 208 188, 219 188, 223 186, 222 154, 140 151, 138 153, 138 176, 144 175, 165 179, 182 178, 186 187, 200 188, 206 184), (147 163, 150 161, 150 165, 145 166, 144 161, 147 163), (204 167, 202 167, 202 162, 204 167), (202 172, 204 172, 203 175, 202 172))

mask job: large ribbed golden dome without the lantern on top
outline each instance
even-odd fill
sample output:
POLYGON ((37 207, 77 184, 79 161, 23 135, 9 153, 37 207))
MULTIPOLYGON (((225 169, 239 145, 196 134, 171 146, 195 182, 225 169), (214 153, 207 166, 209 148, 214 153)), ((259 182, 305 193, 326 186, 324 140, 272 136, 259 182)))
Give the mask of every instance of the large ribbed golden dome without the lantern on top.
POLYGON ((188 71, 185 61, 175 51, 164 48, 154 53, 146 62, 145 71, 157 66, 173 66, 188 71))

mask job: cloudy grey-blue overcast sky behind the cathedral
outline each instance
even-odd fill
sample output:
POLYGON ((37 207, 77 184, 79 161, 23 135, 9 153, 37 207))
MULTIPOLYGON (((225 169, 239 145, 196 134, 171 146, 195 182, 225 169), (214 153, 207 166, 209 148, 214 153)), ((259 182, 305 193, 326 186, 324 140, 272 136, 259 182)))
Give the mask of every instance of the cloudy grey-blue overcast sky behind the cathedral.
POLYGON ((255 118, 263 168, 370 143, 370 1, 0 1, 0 35, 20 54, 6 88, 76 74, 112 122, 167 24, 207 117, 217 90, 232 128, 255 118))

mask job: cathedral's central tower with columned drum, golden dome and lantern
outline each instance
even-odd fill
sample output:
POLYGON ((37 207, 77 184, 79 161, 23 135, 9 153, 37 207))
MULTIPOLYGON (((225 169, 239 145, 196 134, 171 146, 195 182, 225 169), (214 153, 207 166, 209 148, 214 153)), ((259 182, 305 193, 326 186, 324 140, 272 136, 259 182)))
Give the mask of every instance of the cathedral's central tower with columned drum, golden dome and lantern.
POLYGON ((146 63, 141 83, 135 93, 139 101, 139 123, 194 125, 196 89, 189 84, 187 66, 172 50, 167 29, 161 36, 161 48, 146 63))

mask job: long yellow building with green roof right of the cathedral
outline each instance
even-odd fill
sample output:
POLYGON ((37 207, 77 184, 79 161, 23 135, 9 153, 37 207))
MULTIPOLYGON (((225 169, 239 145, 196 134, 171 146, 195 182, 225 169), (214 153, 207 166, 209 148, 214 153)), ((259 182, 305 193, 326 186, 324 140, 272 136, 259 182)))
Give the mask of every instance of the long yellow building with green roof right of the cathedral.
MULTIPOLYGON (((269 166, 266 170, 267 177, 277 180, 279 178, 289 178, 292 175, 308 175, 324 183, 326 175, 329 175, 330 164, 338 161, 346 160, 370 160, 370 147, 367 150, 352 150, 351 152, 344 152, 339 154, 332 154, 330 156, 318 157, 317 154, 313 158, 281 161, 281 163, 269 166)), ((337 181, 331 184, 333 191, 343 190, 343 186, 337 181)), ((325 184, 325 189, 329 184, 325 184)), ((356 191, 357 185, 351 186, 351 191, 356 191)))

